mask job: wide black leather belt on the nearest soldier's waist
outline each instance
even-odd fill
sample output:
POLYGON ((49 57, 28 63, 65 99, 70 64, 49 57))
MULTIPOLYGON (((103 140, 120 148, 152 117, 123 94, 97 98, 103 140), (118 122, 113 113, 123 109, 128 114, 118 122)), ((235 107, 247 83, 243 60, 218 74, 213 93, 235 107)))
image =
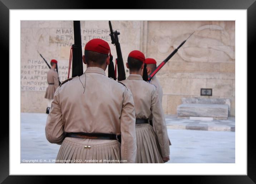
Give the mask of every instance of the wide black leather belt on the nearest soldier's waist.
POLYGON ((82 139, 110 139, 110 140, 118 140, 117 135, 108 134, 108 133, 66 133, 66 137, 75 137, 82 139))

